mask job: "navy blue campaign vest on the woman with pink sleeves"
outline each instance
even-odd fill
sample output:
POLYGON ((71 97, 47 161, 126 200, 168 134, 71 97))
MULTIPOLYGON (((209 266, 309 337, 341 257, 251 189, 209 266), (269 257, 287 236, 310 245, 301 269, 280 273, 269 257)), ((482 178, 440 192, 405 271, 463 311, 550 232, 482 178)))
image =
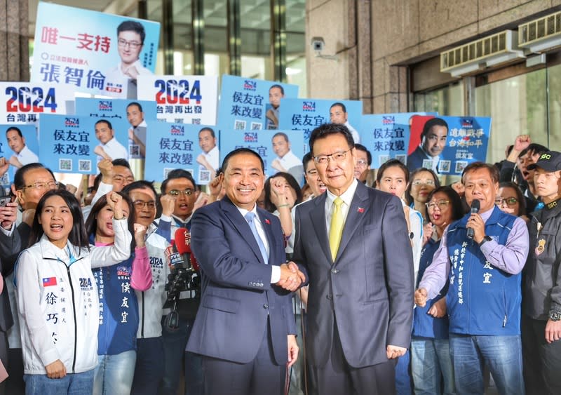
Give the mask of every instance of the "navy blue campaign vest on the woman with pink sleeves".
POLYGON ((97 355, 116 355, 136 349, 138 301, 130 287, 134 255, 128 260, 92 269, 100 297, 97 355))

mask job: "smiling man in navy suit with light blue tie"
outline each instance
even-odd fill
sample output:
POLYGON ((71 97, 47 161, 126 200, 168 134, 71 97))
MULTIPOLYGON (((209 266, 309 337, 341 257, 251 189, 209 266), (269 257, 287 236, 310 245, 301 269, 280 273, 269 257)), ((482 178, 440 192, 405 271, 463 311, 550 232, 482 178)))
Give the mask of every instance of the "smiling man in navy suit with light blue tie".
POLYGON ((187 351, 203 356, 205 394, 280 395, 298 354, 288 290, 303 274, 283 263, 278 218, 257 208, 265 180, 261 157, 236 149, 224 158, 219 178, 226 196, 191 220, 202 295, 187 351))

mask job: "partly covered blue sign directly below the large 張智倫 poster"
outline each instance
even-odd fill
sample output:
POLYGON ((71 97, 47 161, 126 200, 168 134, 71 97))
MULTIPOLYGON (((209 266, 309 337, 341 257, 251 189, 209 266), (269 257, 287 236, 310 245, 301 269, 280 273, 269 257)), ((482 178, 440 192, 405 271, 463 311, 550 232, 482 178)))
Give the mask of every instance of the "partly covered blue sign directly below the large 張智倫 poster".
POLYGON ((109 119, 114 126, 127 121, 128 157, 144 159, 148 125, 156 122, 156 102, 127 99, 76 98, 76 114, 109 119))

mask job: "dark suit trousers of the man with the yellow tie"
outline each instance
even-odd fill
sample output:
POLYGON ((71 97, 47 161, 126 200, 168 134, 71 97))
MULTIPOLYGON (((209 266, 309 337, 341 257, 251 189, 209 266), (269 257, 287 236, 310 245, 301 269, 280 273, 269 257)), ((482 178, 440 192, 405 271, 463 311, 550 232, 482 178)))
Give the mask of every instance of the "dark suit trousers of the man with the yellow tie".
POLYGON ((396 393, 396 361, 353 368, 343 354, 337 321, 333 323, 333 342, 330 358, 324 366, 312 366, 316 377, 317 394, 330 395, 387 395, 396 393))

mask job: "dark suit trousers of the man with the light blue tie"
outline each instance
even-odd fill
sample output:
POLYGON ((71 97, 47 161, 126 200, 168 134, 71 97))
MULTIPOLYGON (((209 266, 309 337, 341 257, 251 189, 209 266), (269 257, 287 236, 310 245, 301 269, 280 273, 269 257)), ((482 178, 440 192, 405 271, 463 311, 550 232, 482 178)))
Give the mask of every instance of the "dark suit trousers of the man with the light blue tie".
POLYGON ((271 330, 267 323, 255 359, 236 363, 203 356, 205 395, 282 395, 286 366, 278 366, 273 357, 271 330))

